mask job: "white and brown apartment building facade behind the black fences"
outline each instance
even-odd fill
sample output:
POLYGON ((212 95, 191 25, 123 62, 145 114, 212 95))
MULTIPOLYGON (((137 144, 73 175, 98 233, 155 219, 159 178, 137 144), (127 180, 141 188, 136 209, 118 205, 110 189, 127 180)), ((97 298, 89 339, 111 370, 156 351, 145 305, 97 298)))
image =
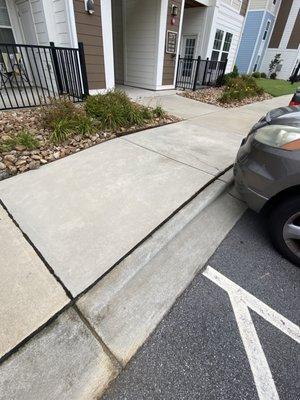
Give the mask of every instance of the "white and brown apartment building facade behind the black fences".
POLYGON ((84 44, 91 94, 175 87, 179 54, 236 58, 247 0, 0 0, 0 44, 84 44))

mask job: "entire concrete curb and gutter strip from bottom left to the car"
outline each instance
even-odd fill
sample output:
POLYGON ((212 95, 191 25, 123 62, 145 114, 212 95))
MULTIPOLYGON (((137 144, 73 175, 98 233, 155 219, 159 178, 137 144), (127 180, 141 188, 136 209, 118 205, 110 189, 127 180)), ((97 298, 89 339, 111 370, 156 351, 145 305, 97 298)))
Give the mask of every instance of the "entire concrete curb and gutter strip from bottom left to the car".
POLYGON ((0 399, 99 398, 244 212, 227 189, 209 185, 0 365, 0 399))

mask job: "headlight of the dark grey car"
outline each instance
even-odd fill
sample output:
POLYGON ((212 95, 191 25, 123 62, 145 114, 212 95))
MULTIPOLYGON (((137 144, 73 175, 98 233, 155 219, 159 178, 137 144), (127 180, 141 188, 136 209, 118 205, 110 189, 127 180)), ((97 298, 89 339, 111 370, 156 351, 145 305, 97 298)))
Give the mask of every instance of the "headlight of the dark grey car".
POLYGON ((268 125, 257 130, 255 140, 284 150, 300 150, 300 128, 285 125, 268 125))

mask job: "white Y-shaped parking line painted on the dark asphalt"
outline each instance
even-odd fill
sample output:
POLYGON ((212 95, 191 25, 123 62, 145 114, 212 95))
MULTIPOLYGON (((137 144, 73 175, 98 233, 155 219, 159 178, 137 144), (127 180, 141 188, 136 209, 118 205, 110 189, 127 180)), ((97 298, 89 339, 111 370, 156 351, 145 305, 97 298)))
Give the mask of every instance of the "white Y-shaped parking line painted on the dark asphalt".
POLYGON ((300 328, 214 268, 208 266, 203 275, 229 295, 260 400, 278 400, 279 396, 272 373, 249 308, 297 343, 300 343, 300 328))

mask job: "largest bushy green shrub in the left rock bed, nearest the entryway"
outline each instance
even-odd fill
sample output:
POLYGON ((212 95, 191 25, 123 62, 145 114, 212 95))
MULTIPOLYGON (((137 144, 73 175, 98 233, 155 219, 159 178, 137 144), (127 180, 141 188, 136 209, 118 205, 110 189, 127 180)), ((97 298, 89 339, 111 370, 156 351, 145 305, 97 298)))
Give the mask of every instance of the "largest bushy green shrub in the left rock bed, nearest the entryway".
POLYGON ((89 96, 85 110, 88 116, 99 121, 102 129, 118 130, 133 125, 143 125, 154 118, 149 108, 136 104, 120 90, 89 96))

